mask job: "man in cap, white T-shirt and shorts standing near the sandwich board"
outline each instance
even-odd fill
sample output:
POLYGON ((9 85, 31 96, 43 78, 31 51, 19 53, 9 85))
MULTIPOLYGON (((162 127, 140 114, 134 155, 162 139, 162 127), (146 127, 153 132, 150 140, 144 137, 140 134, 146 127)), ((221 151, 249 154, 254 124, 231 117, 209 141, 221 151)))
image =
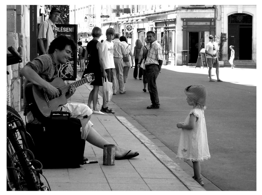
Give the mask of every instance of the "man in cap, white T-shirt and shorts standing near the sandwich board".
POLYGON ((209 43, 206 44, 205 53, 208 54, 207 56, 207 62, 208 62, 208 75, 209 75, 209 81, 214 82, 214 80, 211 77, 211 70, 213 67, 216 68, 216 77, 217 81, 222 82, 219 79, 219 61, 217 59, 217 54, 219 52, 218 44, 214 41, 214 36, 209 35, 209 43))

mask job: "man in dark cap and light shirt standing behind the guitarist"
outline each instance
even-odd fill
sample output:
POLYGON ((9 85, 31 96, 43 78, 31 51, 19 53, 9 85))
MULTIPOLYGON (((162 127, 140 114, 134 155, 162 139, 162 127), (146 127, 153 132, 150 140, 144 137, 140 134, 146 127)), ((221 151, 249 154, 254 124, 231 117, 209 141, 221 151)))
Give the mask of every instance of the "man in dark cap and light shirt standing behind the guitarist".
POLYGON ((39 55, 48 54, 50 43, 56 38, 57 30, 55 23, 57 22, 61 11, 59 7, 53 7, 50 11, 49 18, 40 23, 38 27, 38 53, 39 55))

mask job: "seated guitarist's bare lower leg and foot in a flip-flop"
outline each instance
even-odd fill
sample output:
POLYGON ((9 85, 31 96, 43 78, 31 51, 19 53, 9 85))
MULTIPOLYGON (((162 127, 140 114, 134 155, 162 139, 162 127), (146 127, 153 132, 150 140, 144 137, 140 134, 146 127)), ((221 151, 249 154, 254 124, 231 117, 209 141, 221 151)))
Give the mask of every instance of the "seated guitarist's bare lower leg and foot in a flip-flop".
MULTIPOLYGON (((104 148, 105 144, 111 144, 110 142, 108 142, 105 138, 103 138, 99 133, 97 133, 97 131, 91 127, 88 136, 86 138, 86 141, 88 141, 90 144, 97 146, 101 149, 104 148)), ((123 157, 127 154, 129 150, 128 149, 124 149, 122 147, 116 146, 116 153, 115 153, 115 157, 123 157)), ((131 151, 129 154, 133 155, 137 153, 137 151, 131 151)))

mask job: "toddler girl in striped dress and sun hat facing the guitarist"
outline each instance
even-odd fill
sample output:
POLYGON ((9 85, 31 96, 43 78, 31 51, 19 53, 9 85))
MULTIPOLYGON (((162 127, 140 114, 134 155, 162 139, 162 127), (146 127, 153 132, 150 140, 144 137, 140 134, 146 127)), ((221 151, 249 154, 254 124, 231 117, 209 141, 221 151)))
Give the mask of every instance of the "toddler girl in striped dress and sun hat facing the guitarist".
POLYGON ((193 106, 184 123, 177 123, 177 128, 182 128, 177 159, 193 162, 193 178, 204 186, 201 178, 200 161, 210 158, 208 139, 206 136, 206 122, 204 108, 206 105, 207 91, 203 85, 192 85, 185 88, 187 103, 193 106))

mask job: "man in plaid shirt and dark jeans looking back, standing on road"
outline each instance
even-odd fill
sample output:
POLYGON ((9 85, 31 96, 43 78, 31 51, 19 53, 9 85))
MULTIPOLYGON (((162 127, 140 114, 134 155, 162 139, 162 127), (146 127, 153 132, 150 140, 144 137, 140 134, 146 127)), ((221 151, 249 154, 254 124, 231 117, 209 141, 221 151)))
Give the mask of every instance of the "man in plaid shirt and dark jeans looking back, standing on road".
POLYGON ((161 70, 163 54, 161 45, 156 41, 155 33, 153 31, 148 31, 146 33, 146 38, 150 43, 150 48, 145 61, 145 69, 146 78, 148 80, 148 91, 152 103, 152 105, 148 106, 147 109, 156 109, 160 107, 156 87, 156 78, 161 70))

